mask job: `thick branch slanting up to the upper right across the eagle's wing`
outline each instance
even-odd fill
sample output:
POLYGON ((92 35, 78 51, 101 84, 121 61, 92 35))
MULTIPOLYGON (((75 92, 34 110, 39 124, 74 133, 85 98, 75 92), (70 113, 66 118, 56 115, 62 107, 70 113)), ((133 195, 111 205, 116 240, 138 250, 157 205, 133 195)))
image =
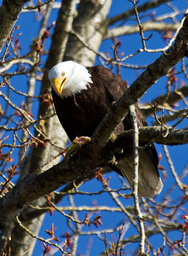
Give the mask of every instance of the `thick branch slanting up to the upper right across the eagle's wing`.
MULTIPOLYGON (((128 114, 128 106, 137 104, 138 100, 157 80, 168 74, 171 68, 185 56, 188 56, 188 18, 184 20, 183 27, 174 44, 166 53, 163 53, 154 63, 148 65, 146 70, 133 82, 124 95, 113 104, 111 110, 103 118, 95 130, 90 142, 90 149, 93 151, 104 147, 117 126, 128 114)), ((89 151, 88 151, 89 154, 89 151)))

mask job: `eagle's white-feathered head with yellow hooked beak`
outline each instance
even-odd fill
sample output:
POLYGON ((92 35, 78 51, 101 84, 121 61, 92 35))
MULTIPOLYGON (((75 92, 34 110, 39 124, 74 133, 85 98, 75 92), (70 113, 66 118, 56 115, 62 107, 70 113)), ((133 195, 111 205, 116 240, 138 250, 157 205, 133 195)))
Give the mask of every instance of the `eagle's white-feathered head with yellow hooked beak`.
POLYGON ((65 61, 54 66, 48 74, 54 91, 62 98, 73 96, 87 85, 93 83, 86 67, 74 62, 65 61))

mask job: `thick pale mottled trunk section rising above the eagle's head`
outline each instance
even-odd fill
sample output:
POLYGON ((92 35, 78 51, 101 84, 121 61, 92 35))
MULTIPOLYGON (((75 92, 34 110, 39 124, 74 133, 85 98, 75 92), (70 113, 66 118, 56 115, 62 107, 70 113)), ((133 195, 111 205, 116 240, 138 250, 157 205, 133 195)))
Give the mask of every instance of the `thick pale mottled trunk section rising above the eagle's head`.
POLYGON ((111 0, 80 1, 64 61, 73 60, 89 67, 94 65, 96 53, 107 30, 107 15, 111 2, 111 0))

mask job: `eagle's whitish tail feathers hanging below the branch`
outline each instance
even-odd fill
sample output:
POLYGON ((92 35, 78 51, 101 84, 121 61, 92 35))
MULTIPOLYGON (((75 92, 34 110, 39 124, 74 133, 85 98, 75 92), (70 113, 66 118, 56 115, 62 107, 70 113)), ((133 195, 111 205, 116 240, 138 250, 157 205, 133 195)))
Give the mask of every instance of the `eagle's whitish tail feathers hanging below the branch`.
MULTIPOLYGON (((127 180, 132 189, 133 180, 133 159, 123 159, 116 165, 122 172, 124 178, 127 180)), ((139 183, 138 196, 153 198, 159 194, 163 188, 162 180, 158 176, 154 165, 145 151, 139 152, 139 183)))

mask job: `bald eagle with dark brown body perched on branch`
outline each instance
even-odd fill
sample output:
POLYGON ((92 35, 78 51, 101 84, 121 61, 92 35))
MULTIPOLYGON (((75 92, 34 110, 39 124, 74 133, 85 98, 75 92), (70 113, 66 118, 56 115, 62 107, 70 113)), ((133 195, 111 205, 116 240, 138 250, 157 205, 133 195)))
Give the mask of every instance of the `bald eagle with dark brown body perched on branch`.
MULTIPOLYGON (((109 111, 111 103, 127 90, 124 81, 102 66, 84 67, 73 61, 54 66, 49 72, 52 97, 57 116, 69 139, 92 137, 94 130, 109 111)), ((138 126, 147 126, 136 107, 138 126)), ((132 129, 129 114, 115 133, 132 129)), ((133 155, 125 149, 125 157, 118 161, 116 172, 121 174, 132 188, 133 155)), ((139 196, 151 198, 163 188, 158 172, 158 156, 154 145, 139 152, 139 196)))

